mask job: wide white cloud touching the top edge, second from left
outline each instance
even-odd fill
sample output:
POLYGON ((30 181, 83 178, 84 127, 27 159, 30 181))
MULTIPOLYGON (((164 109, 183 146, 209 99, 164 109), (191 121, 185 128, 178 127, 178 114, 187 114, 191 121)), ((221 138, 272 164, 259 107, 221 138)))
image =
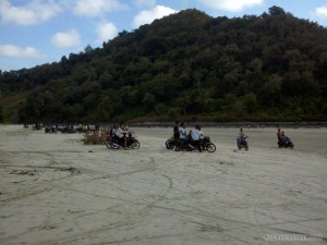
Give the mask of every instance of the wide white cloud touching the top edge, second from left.
POLYGON ((128 7, 117 0, 77 0, 73 7, 73 12, 81 16, 99 16, 105 12, 123 10, 128 7))

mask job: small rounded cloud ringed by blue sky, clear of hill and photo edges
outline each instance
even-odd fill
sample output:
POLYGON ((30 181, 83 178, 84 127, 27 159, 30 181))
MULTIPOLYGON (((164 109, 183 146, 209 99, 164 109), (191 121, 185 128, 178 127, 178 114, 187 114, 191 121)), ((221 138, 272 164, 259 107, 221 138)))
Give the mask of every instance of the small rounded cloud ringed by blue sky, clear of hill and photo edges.
POLYGON ((81 44, 81 37, 76 29, 71 29, 65 33, 57 33, 51 38, 51 44, 58 48, 78 46, 81 44))

